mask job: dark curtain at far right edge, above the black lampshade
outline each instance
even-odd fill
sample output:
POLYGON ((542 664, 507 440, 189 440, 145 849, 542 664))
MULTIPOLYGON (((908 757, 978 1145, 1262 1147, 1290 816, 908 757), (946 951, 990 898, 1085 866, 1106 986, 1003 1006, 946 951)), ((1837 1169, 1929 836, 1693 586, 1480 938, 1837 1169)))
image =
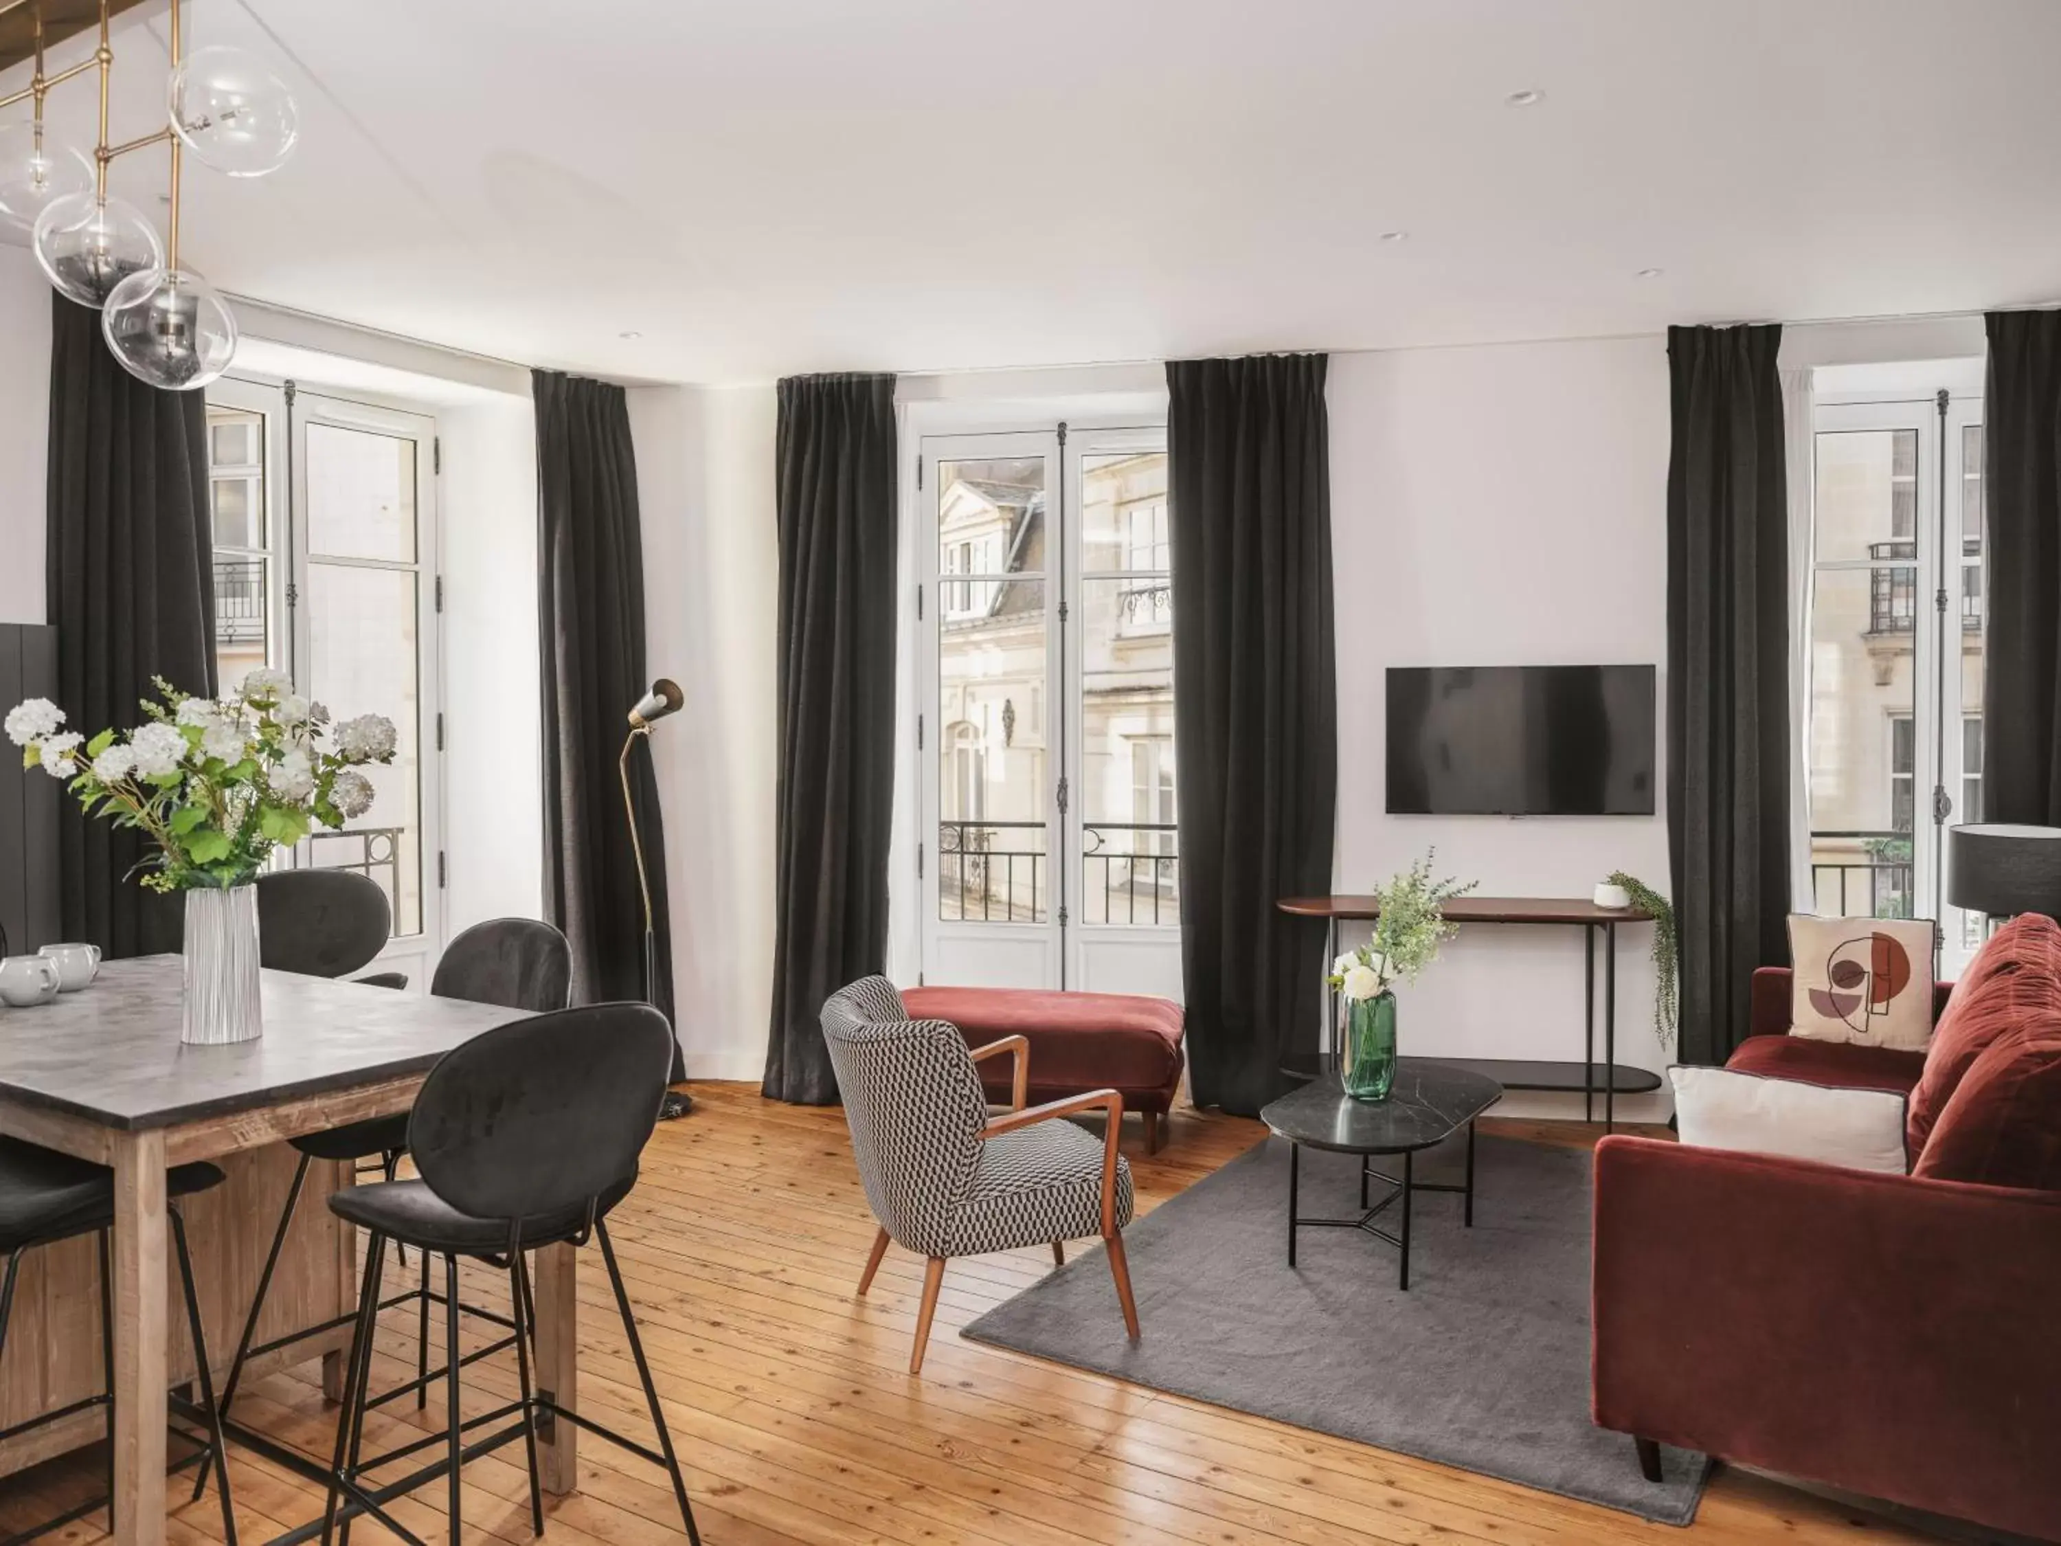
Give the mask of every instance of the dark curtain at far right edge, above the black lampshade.
MULTIPOLYGON (((1983 820, 2061 825, 2061 311, 1989 315, 1983 820)), ((1966 818, 1966 812, 1962 812, 1966 818)))

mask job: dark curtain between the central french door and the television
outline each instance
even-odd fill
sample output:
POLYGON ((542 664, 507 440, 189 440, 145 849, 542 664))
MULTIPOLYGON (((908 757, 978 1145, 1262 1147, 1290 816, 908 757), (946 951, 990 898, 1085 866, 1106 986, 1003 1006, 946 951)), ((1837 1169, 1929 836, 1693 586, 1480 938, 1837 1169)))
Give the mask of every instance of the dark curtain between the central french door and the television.
POLYGON ((1315 1045, 1338 680, 1323 355, 1167 365, 1181 975, 1195 1105, 1251 1115, 1315 1045))

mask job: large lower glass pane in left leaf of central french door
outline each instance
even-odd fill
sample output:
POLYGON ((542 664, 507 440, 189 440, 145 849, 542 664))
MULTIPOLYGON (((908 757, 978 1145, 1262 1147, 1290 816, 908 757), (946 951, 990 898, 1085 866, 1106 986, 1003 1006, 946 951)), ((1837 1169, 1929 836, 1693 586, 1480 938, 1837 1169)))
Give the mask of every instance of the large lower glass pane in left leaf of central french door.
MULTIPOLYGON (((987 464, 991 466, 991 464, 987 464)), ((1051 907, 1045 802, 1045 583, 991 585, 938 616, 938 917, 1043 923, 1051 907)))

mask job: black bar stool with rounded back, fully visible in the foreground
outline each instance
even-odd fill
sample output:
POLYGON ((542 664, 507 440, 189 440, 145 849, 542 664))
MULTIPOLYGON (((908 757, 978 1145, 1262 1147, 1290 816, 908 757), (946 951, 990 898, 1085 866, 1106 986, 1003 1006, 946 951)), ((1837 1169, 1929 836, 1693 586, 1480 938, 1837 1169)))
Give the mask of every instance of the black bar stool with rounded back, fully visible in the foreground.
MULTIPOLYGON (((556 1243, 585 1245, 592 1239, 600 1243, 608 1266, 622 1332, 657 1431, 657 1449, 561 1406, 550 1391, 538 1393, 530 1381, 530 1338, 517 1336, 519 1400, 466 1420, 460 1416, 453 1369, 443 1387, 445 1459, 410 1472, 406 1480, 420 1486, 437 1476, 447 1478, 451 1546, 458 1546, 458 1482, 466 1453, 486 1453, 519 1435, 530 1459, 530 1523, 542 1536, 536 1424, 540 1418, 563 1418, 662 1466, 672 1480, 686 1538, 701 1546, 686 1480, 680 1476, 680 1459, 651 1383, 651 1365, 645 1360, 637 1315, 606 1224, 608 1212, 637 1183, 637 1156, 657 1125, 670 1072, 672 1024, 649 1004, 589 1004, 497 1027, 445 1053, 423 1080, 408 1119, 408 1148, 418 1179, 348 1187, 330 1198, 330 1210, 369 1231, 371 1239, 359 1295, 359 1334, 344 1379, 344 1410, 336 1420, 324 1540, 338 1523, 338 1509, 346 1527, 352 1515, 371 1515, 406 1536, 375 1497, 375 1490, 392 1490, 369 1488, 361 1480, 367 1472, 423 1449, 416 1441, 371 1459, 361 1455, 385 1241, 404 1241, 443 1257, 445 1338, 455 1348, 458 1257, 507 1272, 509 1305, 517 1317, 534 1321, 534 1313, 526 1311, 532 1299, 523 1251, 556 1243), (468 1431, 509 1416, 517 1422, 466 1441, 468 1431)), ((532 1323, 532 1336, 534 1330, 532 1323)))

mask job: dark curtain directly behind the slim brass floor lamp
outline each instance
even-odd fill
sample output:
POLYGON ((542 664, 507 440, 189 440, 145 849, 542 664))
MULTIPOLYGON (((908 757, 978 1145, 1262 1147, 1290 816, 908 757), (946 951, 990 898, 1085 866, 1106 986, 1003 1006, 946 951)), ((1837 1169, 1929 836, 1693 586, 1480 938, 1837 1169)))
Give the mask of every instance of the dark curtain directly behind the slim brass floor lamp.
MULTIPOLYGON (((616 759, 645 672, 637 453, 622 388, 534 371, 538 645, 544 686, 544 909, 573 946, 573 1002, 639 1000, 643 901, 616 759)), ((672 726, 662 726, 666 734, 672 726)), ((631 794, 657 932, 651 1004, 672 1018, 666 822, 647 746, 631 794)), ((674 1049, 674 1072, 682 1068, 674 1049)))

